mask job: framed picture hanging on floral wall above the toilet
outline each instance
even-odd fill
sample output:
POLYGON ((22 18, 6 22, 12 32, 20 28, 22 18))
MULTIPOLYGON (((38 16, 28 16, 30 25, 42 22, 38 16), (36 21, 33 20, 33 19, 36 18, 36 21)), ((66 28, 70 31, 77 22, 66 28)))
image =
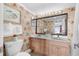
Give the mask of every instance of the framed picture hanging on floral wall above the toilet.
POLYGON ((12 22, 12 23, 21 23, 21 13, 20 11, 13 9, 9 6, 4 6, 4 21, 12 22))

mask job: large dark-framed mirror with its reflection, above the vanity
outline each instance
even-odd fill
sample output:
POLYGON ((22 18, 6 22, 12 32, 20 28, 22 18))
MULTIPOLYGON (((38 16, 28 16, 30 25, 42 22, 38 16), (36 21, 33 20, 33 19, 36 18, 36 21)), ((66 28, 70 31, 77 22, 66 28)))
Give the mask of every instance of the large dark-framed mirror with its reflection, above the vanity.
POLYGON ((59 14, 36 19, 36 34, 67 35, 68 14, 59 14))

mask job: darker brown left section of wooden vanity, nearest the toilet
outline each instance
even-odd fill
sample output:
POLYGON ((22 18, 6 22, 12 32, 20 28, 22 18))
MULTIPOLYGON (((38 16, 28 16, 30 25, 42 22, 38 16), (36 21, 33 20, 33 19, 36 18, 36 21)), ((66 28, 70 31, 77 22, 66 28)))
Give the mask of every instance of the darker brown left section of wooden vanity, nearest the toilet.
POLYGON ((30 38, 30 48, 32 49, 33 53, 44 55, 45 49, 45 40, 39 38, 30 38))

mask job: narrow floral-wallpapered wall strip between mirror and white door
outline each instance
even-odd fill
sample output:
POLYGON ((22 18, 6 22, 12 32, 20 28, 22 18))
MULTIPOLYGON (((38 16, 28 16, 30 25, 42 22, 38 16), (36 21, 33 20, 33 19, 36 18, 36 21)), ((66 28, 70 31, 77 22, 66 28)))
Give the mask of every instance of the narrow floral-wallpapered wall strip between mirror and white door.
POLYGON ((73 38, 73 25, 74 25, 74 15, 75 15, 75 8, 67 8, 64 12, 68 13, 68 40, 71 42, 73 38))

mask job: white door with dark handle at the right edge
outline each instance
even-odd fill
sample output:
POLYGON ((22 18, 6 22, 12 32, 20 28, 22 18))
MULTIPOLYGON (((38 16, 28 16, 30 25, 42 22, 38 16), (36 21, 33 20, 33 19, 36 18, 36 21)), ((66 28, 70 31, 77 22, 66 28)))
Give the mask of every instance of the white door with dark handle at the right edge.
POLYGON ((75 23, 72 40, 72 55, 79 56, 79 4, 76 4, 75 23))

